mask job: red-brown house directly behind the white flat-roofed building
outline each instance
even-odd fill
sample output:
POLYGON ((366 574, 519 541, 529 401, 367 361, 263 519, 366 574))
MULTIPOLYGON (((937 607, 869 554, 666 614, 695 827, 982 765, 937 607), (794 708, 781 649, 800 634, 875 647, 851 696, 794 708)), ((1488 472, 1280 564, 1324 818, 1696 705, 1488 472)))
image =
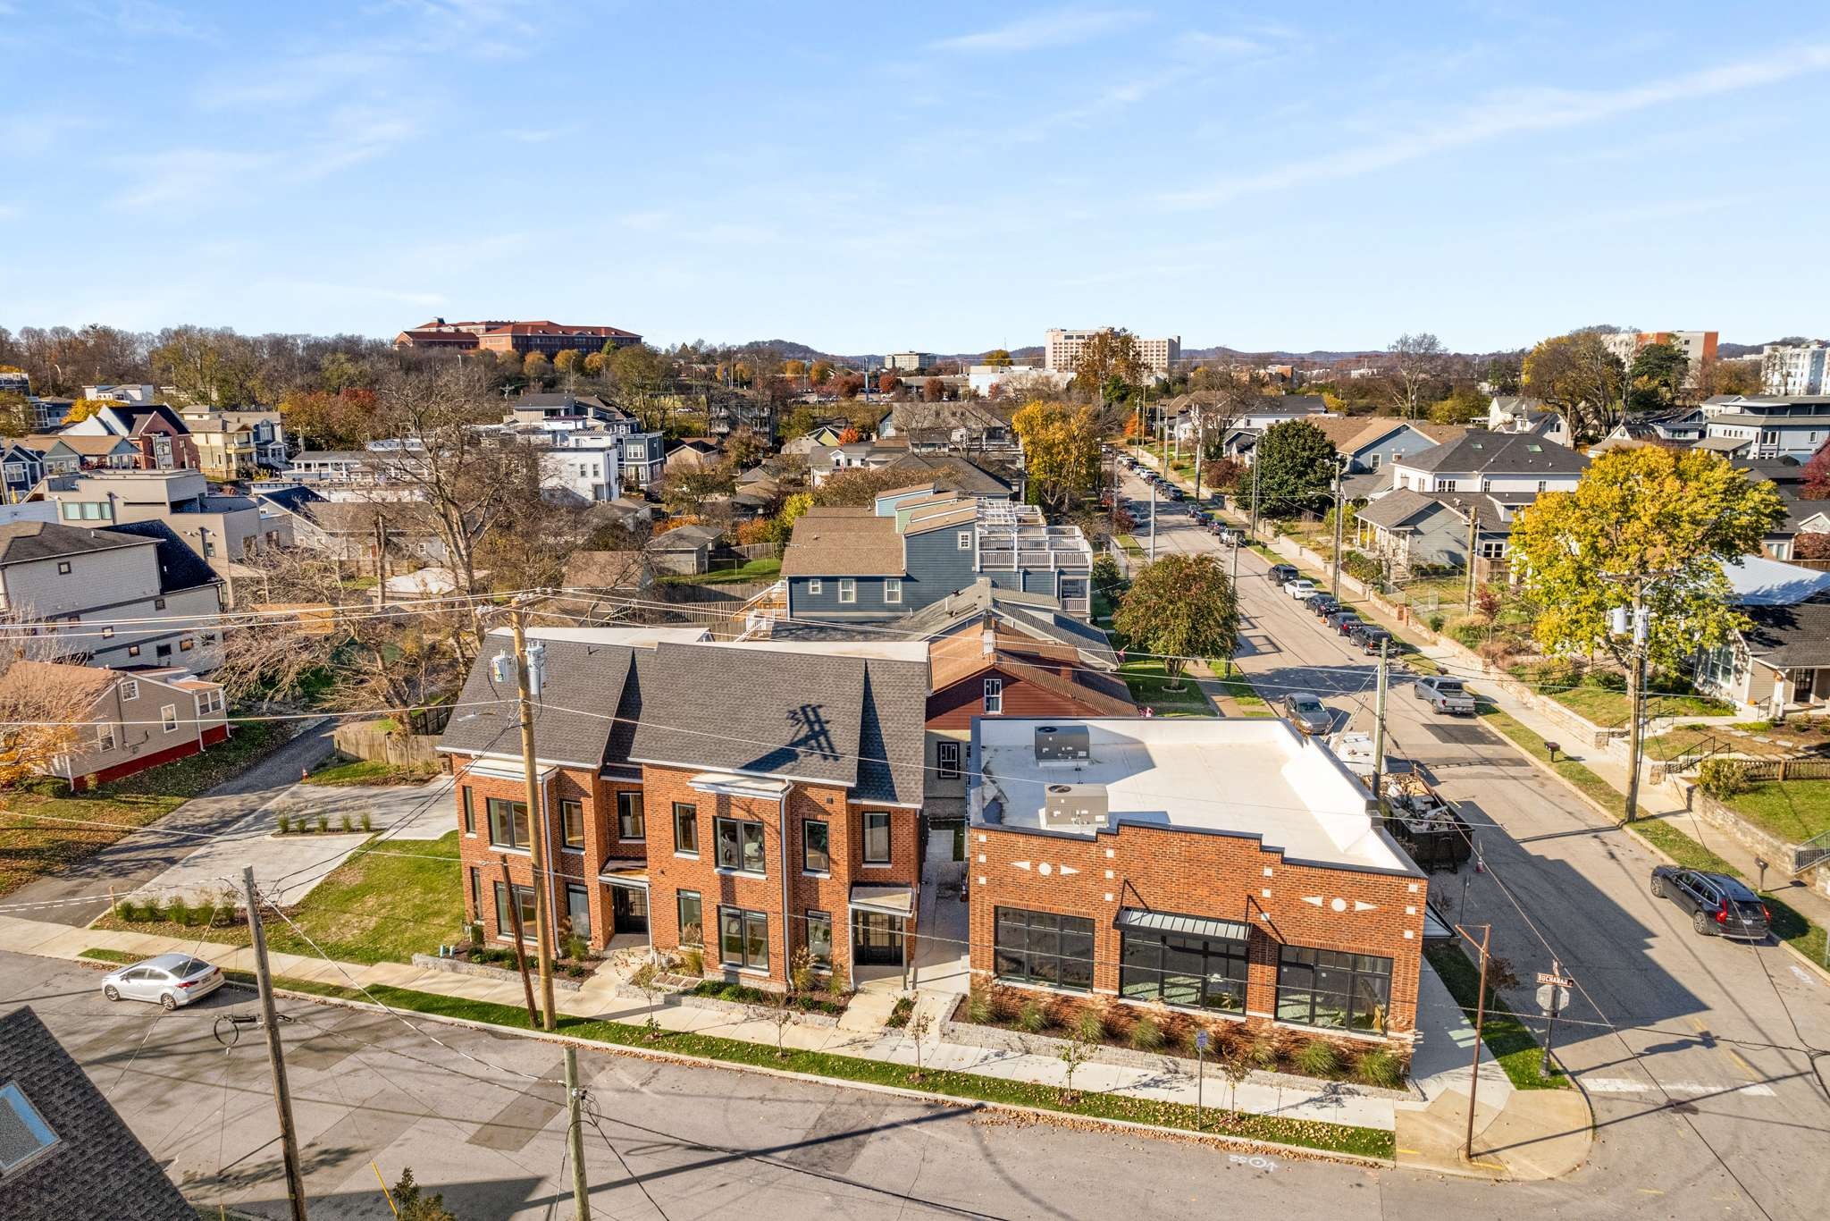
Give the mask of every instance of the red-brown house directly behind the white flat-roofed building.
POLYGON ((966 816, 966 749, 981 716, 1136 716, 1125 681, 1087 666, 1071 644, 999 632, 996 619, 977 632, 928 644, 928 805, 930 824, 966 816))

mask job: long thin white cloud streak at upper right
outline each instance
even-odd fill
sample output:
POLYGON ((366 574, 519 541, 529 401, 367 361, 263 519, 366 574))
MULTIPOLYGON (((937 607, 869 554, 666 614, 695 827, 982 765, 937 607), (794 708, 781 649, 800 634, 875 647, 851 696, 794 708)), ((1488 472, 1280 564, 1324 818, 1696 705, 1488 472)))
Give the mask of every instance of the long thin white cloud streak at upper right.
POLYGON ((1654 106, 1779 84, 1826 68, 1830 68, 1830 44, 1819 44, 1620 90, 1512 90, 1495 93, 1437 126, 1340 148, 1319 157, 1288 161, 1259 174, 1222 178, 1204 187, 1169 192, 1162 196, 1162 201, 1184 209, 1213 207, 1246 194, 1371 174, 1504 135, 1585 126, 1654 106))

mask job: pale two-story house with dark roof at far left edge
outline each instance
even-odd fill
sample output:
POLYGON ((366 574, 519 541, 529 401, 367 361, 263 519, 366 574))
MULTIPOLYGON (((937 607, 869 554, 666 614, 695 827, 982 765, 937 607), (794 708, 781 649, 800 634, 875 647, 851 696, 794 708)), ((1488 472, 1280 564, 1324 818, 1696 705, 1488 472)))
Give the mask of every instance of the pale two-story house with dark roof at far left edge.
POLYGON ((0 524, 0 613, 110 668, 221 665, 223 582, 163 522, 0 524), (59 639, 62 637, 62 639, 59 639))

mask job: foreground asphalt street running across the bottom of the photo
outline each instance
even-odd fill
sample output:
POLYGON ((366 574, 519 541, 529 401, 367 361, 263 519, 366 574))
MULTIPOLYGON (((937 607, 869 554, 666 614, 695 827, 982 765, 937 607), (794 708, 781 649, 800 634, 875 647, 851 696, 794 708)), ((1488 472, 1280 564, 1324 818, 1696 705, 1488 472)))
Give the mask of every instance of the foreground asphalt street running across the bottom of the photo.
MULTIPOLYGON (((282 1217, 262 1040, 247 1029, 223 1049, 212 1036, 220 1018, 256 1010, 253 992, 225 987, 165 1014, 110 1005, 101 974, 0 952, 0 1010, 29 1003, 187 1195, 282 1217)), ((412 1168, 465 1221, 571 1216, 556 1047, 284 998, 280 1010, 313 1219, 388 1217, 371 1162, 390 1184, 412 1168)), ((580 1054, 580 1073, 593 1210, 624 1221, 1742 1216, 1702 1177, 1662 1177, 1660 1199, 1643 1179, 1588 1172, 1491 1184, 598 1051, 580 1054)), ((1806 1216, 1803 1199, 1773 1216, 1806 1216)))

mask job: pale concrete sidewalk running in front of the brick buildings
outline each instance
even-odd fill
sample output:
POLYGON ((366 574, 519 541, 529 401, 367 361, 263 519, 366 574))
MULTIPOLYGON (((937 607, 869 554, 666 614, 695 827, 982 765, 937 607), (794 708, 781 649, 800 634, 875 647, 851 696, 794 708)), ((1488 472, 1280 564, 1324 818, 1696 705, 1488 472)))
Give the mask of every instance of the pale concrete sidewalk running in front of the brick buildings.
MULTIPOLYGON (((196 952, 209 961, 231 968, 251 970, 253 954, 243 946, 218 945, 210 941, 179 941, 174 937, 70 928, 64 924, 46 924, 38 921, 0 917, 0 948, 46 957, 75 959, 86 948, 108 948, 123 954, 163 954, 170 950, 196 952)), ((423 970, 403 963, 335 963, 320 957, 296 954, 271 954, 276 976, 306 979, 313 983, 339 987, 390 985, 441 996, 459 996, 476 1001, 492 1001, 520 1009, 525 999, 520 983, 496 981, 478 976, 461 976, 441 970, 423 970)), ((1583 1113, 1581 1139, 1572 1139, 1572 1126, 1565 1115, 1537 1115, 1530 1106, 1521 1106, 1524 1093, 1515 1093, 1506 1086, 1504 1073, 1491 1056, 1484 1053, 1482 1062, 1482 1131, 1491 1128, 1497 1135, 1506 1135, 1506 1144, 1528 1144, 1537 1150, 1539 1166, 1526 1166, 1519 1157, 1508 1157, 1504 1150, 1490 1150, 1490 1164, 1466 1166, 1457 1161, 1459 1128, 1442 1120, 1442 1115, 1457 1111, 1455 1098, 1466 1098, 1468 1051, 1473 1047, 1473 1031, 1455 1007, 1448 989, 1427 967, 1424 970, 1426 989, 1420 998, 1420 1053, 1416 1082, 1416 1100, 1398 1102, 1387 1095, 1372 1095, 1345 1082, 1301 1082, 1283 1075, 1254 1073, 1246 1078, 1237 1097, 1228 1087, 1221 1073, 1208 1073, 1204 1082, 1195 1080, 1195 1073, 1186 1060, 1160 1056, 1151 1067, 1120 1064, 1082 1064, 1074 1073, 1074 1084, 1096 1093, 1116 1093, 1136 1098, 1158 1098, 1193 1106, 1200 1097, 1208 1106, 1230 1106, 1257 1115, 1279 1115, 1288 1118, 1312 1118, 1330 1124, 1354 1124, 1398 1133, 1398 1164, 1427 1170, 1457 1170, 1488 1177, 1552 1177, 1574 1170, 1588 1148, 1587 1111, 1583 1113), (1491 1102, 1491 1106, 1488 1106, 1491 1102), (1438 1106, 1440 1104, 1440 1106, 1438 1106), (1490 1113, 1486 1113, 1490 1111, 1490 1113), (1453 1129, 1453 1131, 1451 1131, 1453 1129), (1444 1135, 1446 1133, 1446 1135, 1444 1135), (1453 1140, 1449 1137, 1453 1135, 1453 1140)), ((941 1018, 948 1016, 959 1003, 959 992, 942 989, 935 992, 917 992, 917 1014, 928 1016, 930 1032, 922 1043, 919 1060, 924 1067, 955 1069, 1001 1076, 1006 1080, 1034 1082, 1065 1087, 1067 1069, 1050 1053, 994 1051, 937 1038, 941 1018)), ((893 994, 860 992, 838 1025, 811 1025, 791 1021, 776 1027, 750 1012, 732 1012, 723 1009, 701 1009, 692 1005, 651 1005, 646 999, 619 996, 617 983, 609 978, 595 978, 576 992, 560 992, 562 1012, 578 1018, 597 1018, 642 1025, 650 1018, 666 1031, 690 1031, 697 1034, 716 1034, 721 1038, 745 1040, 752 1043, 774 1043, 805 1051, 829 1051, 889 1064, 917 1064, 915 1040, 904 1031, 886 1029, 886 1021, 895 1005, 893 994)), ((1464 1108, 1466 1104, 1462 1104, 1464 1108)), ((1495 1139, 1497 1139, 1495 1135, 1495 1139)), ((1482 1142, 1480 1148, 1486 1148, 1482 1142)))

